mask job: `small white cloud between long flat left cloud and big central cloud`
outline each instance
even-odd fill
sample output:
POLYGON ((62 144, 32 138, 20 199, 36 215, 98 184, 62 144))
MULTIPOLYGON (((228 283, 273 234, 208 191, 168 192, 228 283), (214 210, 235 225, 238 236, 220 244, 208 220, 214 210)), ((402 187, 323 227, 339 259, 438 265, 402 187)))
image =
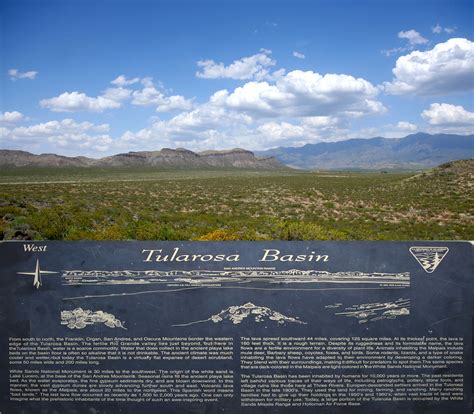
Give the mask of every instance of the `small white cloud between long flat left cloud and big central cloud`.
POLYGON ((166 96, 158 90, 151 78, 142 80, 144 87, 132 93, 132 104, 140 106, 155 106, 157 112, 170 112, 173 110, 190 110, 193 100, 181 95, 166 96))

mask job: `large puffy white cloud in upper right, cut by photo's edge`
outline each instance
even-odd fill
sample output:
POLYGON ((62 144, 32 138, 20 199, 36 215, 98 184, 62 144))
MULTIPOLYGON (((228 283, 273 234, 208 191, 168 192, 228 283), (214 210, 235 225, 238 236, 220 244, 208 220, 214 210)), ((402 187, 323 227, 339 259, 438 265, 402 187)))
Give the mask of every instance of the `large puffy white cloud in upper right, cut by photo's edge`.
POLYGON ((394 79, 385 82, 392 95, 441 95, 474 88, 474 43, 449 39, 425 52, 414 51, 397 59, 394 79))

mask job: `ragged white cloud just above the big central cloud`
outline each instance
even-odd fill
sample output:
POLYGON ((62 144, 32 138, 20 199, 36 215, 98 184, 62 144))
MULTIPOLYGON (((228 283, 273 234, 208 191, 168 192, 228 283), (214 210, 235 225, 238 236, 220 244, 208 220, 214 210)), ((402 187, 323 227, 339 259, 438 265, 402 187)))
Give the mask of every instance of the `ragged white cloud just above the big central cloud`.
POLYGON ((211 59, 200 60, 197 65, 201 70, 196 72, 196 76, 204 79, 265 79, 270 75, 267 68, 276 64, 271 53, 271 50, 261 49, 260 53, 234 60, 228 66, 211 59))

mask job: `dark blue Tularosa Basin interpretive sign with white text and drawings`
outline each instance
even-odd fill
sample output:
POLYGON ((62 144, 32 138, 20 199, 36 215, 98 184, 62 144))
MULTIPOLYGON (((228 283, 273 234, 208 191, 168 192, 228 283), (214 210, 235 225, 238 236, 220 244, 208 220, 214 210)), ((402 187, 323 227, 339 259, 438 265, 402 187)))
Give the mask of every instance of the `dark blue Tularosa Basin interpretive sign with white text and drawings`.
POLYGON ((471 413, 467 242, 4 242, 2 413, 471 413))

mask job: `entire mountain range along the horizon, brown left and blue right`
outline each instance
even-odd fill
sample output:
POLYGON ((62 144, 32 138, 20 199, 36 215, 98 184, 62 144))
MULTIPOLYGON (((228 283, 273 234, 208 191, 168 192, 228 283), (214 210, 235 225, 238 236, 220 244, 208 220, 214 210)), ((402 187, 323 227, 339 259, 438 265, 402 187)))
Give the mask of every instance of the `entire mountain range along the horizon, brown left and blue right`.
POLYGON ((474 158, 474 135, 418 133, 405 138, 349 139, 338 142, 279 147, 255 152, 241 148, 193 152, 183 148, 139 151, 100 159, 35 155, 0 150, 0 167, 154 167, 302 169, 425 169, 460 159, 474 158))

